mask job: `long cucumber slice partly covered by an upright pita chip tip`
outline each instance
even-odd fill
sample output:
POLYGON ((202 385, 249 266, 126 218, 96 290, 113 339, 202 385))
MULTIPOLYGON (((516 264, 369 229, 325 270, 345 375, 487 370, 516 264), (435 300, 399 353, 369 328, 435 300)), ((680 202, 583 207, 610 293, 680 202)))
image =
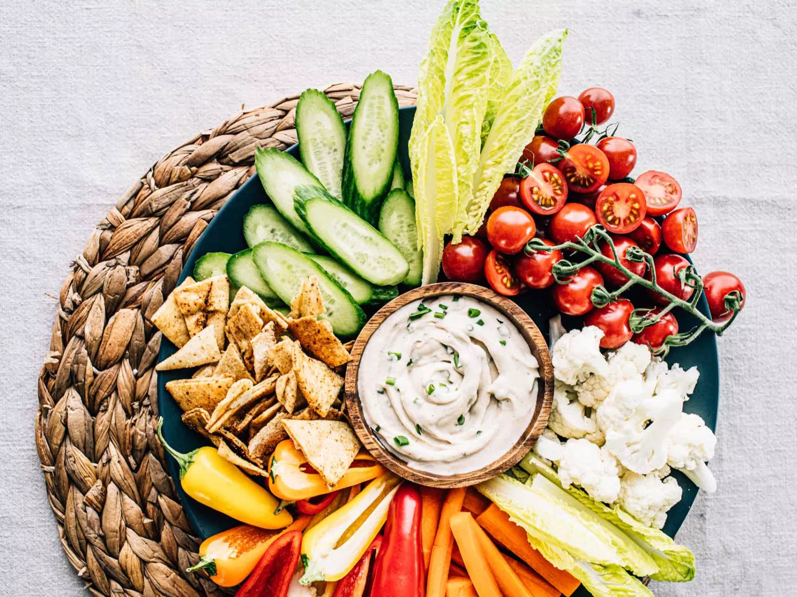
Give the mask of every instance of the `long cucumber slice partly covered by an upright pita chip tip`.
POLYGON ((304 253, 285 244, 269 242, 257 244, 252 252, 257 270, 285 304, 290 304, 299 294, 308 275, 316 275, 327 308, 323 317, 332 324, 335 334, 354 336, 365 324, 365 313, 354 298, 304 253))

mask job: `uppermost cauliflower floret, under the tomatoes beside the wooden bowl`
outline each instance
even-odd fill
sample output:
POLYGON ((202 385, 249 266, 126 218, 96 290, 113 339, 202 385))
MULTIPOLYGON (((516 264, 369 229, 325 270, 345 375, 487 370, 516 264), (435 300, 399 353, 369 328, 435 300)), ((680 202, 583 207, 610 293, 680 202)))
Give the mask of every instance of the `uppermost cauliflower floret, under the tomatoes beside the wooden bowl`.
POLYGON ((565 384, 577 384, 592 373, 606 375, 609 365, 600 352, 603 330, 587 326, 582 330, 571 330, 553 345, 553 374, 565 384))

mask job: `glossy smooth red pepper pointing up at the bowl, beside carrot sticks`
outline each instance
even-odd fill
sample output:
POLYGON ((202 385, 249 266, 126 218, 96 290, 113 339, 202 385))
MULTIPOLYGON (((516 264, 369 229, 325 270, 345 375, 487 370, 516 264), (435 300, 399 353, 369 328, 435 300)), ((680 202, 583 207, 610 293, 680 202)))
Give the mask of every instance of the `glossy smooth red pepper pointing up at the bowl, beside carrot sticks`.
POLYGON ((426 585, 421 544, 421 494, 404 483, 387 512, 382 548, 376 555, 371 595, 423 597, 426 585))

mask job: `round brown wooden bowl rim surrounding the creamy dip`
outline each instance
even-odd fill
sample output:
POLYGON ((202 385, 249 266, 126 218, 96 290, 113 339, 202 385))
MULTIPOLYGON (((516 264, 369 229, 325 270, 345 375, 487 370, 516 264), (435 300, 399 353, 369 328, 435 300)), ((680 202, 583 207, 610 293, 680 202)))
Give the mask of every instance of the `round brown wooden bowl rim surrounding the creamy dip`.
POLYGON ((489 478, 495 477, 507 470, 510 466, 514 466, 526 453, 532 449, 537 438, 542 434, 545 426, 548 424, 548 415, 551 412, 551 404, 553 400, 553 365, 551 363, 551 354, 548 352, 548 344, 545 341, 540 329, 532 322, 532 319, 520 309, 511 299, 506 298, 490 290, 489 288, 477 286, 476 284, 465 284, 457 282, 442 282, 437 284, 430 284, 429 286, 415 288, 409 292, 404 293, 398 298, 388 302, 365 324, 363 330, 359 333, 354 347, 351 349, 351 361, 346 369, 346 408, 351 426, 359 437, 359 441, 367 448, 371 455, 376 458, 380 464, 386 466, 388 470, 393 471, 395 474, 406 478, 412 482, 420 483, 421 485, 432 487, 464 487, 475 485, 489 478), (359 362, 363 356, 363 350, 371 339, 376 329, 382 322, 396 310, 405 306, 409 302, 418 300, 419 298, 428 298, 440 295, 465 295, 476 298, 485 302, 501 313, 515 324, 520 334, 528 342, 528 346, 532 351, 532 355, 536 358, 540 365, 539 373, 540 378, 537 383, 537 401, 532 413, 531 419, 528 421, 528 426, 520 438, 517 439, 515 445, 506 454, 500 455, 493 462, 481 469, 473 470, 469 473, 461 474, 436 474, 426 472, 425 470, 416 470, 407 466, 401 458, 398 458, 391 451, 388 451, 375 435, 371 432, 363 416, 363 407, 359 401, 359 392, 357 391, 357 376, 359 370, 359 362))

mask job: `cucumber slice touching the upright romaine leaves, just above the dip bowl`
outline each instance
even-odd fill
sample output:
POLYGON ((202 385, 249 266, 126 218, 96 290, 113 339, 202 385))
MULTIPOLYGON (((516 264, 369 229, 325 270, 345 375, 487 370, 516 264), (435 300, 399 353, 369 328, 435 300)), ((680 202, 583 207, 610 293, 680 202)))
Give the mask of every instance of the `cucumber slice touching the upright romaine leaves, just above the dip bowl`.
POLYGON ((388 193, 379 212, 379 232, 398 247, 410 264, 404 283, 418 286, 423 273, 423 252, 418 248, 415 201, 404 189, 393 189, 388 193))

